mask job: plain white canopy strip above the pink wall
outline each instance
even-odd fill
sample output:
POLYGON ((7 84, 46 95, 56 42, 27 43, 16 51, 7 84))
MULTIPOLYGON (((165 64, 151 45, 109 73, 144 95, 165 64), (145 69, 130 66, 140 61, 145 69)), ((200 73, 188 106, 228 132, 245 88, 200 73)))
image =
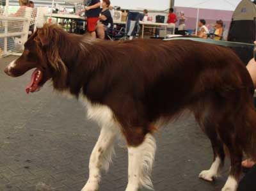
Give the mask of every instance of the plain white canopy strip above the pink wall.
POLYGON ((241 0, 175 0, 174 6, 234 11, 241 0))

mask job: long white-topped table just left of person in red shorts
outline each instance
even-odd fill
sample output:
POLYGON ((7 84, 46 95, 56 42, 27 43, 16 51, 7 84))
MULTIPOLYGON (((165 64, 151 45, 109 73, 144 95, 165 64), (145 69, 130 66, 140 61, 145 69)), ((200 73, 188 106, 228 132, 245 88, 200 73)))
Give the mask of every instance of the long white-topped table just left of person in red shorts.
MULTIPOLYGON (((80 31, 79 29, 81 29, 81 25, 79 24, 79 21, 85 21, 85 17, 81 17, 79 15, 74 15, 74 14, 62 14, 62 13, 49 13, 49 14, 45 14, 45 17, 54 17, 57 19, 57 23, 58 23, 58 19, 67 19, 67 24, 70 24, 70 33, 76 33, 75 29, 78 29, 78 31, 80 31), (68 20, 71 20, 70 23, 68 23, 68 20), (75 22, 75 26, 72 24, 72 20, 74 20, 75 22)), ((83 26, 84 28, 84 26, 83 26)), ((66 29, 68 31, 68 28, 66 29)), ((80 31, 81 32, 81 31, 80 31)), ((79 33, 81 34, 81 33, 79 33)))

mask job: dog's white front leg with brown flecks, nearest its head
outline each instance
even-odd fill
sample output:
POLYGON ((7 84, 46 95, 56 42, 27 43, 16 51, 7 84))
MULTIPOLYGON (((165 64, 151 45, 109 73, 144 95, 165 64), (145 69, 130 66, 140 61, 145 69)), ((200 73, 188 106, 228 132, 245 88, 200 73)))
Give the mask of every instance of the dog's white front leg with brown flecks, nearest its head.
POLYGON ((82 191, 99 190, 100 169, 109 168, 114 153, 114 141, 120 132, 117 126, 103 126, 100 136, 93 148, 89 163, 89 179, 82 191))

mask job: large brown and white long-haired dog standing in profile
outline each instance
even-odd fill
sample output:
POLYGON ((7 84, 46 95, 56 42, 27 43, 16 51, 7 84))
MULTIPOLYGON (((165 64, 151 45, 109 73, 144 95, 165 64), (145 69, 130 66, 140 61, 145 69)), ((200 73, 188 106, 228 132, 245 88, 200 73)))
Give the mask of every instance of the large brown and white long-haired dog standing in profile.
POLYGON ((126 191, 152 188, 156 124, 185 109, 212 143, 213 164, 200 178, 216 178, 228 153, 231 169, 222 190, 235 191, 243 154, 256 159, 253 83, 232 50, 189 40, 91 40, 45 25, 5 72, 18 77, 32 68, 28 93, 52 80, 54 89, 85 103, 88 116, 102 127, 83 191, 99 189, 100 170, 108 169, 120 134, 129 154, 126 191))

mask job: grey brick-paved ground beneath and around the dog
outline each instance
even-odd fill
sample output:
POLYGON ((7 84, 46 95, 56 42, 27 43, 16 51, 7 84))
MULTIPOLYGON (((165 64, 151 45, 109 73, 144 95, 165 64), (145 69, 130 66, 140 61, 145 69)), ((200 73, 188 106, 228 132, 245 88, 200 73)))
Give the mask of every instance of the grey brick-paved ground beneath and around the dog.
MULTIPOLYGON (((84 109, 76 100, 53 93, 47 85, 38 93, 26 95, 31 72, 17 79, 3 73, 13 59, 0 59, 0 190, 80 190, 88 177, 88 159, 99 128, 84 118, 84 109)), ((228 165, 214 183, 197 178, 211 165, 212 153, 192 116, 183 116, 156 137, 156 191, 221 190, 228 165)), ((127 151, 123 141, 118 145, 110 171, 102 176, 100 190, 125 190, 127 151)))

